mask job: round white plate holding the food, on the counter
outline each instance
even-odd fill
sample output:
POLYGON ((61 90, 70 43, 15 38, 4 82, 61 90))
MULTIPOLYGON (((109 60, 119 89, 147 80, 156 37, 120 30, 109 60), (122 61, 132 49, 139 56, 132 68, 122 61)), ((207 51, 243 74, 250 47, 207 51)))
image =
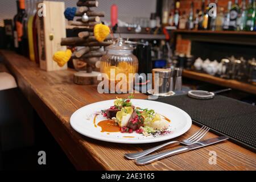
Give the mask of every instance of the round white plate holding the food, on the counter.
MULTIPOLYGON (((149 100, 131 100, 135 107, 141 107, 142 109, 154 109, 156 113, 162 114, 168 119, 170 122, 170 131, 166 135, 162 136, 143 136, 142 134, 137 133, 102 133, 101 127, 94 126, 93 119, 94 115, 97 111, 101 111, 104 109, 108 109, 110 106, 114 105, 114 100, 96 102, 94 104, 90 104, 82 107, 81 109, 75 111, 72 114, 70 123, 74 130, 78 133, 85 135, 86 137, 90 137, 97 140, 102 140, 106 142, 114 142, 114 143, 153 143, 160 142, 163 140, 168 140, 172 138, 179 137, 180 135, 186 133, 191 125, 191 118, 185 111, 168 104, 164 104, 162 102, 149 101, 149 100), (129 137, 129 138, 127 138, 129 137), (133 138, 130 138, 133 137, 133 138)), ((96 124, 102 120, 106 120, 104 117, 99 115, 96 119, 96 124)))

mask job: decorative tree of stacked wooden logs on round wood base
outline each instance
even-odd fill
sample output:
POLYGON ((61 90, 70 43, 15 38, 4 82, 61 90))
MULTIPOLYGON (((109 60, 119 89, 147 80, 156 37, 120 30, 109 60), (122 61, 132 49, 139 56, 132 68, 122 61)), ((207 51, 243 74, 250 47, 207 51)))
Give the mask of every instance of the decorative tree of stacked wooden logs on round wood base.
POLYGON ((73 11, 72 18, 68 19, 70 26, 83 28, 86 31, 79 32, 77 37, 61 39, 61 46, 82 47, 74 52, 73 59, 79 59, 86 63, 86 72, 79 72, 74 75, 74 82, 80 85, 97 84, 97 72, 93 68, 100 67, 99 58, 105 54, 101 47, 110 46, 111 38, 104 42, 98 42, 93 34, 93 27, 101 22, 104 12, 93 11, 92 7, 98 7, 98 1, 79 0, 76 11, 73 11), (76 18, 73 18, 75 16, 76 18))

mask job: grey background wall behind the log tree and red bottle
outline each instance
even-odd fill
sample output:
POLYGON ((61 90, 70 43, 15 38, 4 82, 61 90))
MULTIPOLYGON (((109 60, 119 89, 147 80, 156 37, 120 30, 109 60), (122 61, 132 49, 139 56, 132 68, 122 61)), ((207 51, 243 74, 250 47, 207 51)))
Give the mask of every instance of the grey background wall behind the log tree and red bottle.
MULTIPOLYGON (((76 6, 78 0, 65 0, 66 7, 76 6)), ((134 17, 148 17, 156 10, 156 0, 98 0, 97 11, 105 11, 105 20, 110 20, 110 7, 114 3, 118 5, 119 19, 132 23, 134 17)), ((0 1, 0 26, 3 19, 13 18, 16 14, 15 0, 0 1)))

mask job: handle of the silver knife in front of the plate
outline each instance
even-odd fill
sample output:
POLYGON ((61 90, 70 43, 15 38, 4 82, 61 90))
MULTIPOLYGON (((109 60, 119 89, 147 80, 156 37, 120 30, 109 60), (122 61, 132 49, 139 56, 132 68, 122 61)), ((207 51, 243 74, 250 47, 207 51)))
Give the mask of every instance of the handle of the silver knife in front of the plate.
POLYGON ((172 156, 172 155, 176 155, 176 154, 181 154, 181 153, 187 152, 187 151, 189 151, 189 149, 187 147, 180 147, 180 148, 177 148, 175 150, 162 152, 160 154, 144 156, 143 158, 136 159, 135 163, 139 166, 143 166, 143 165, 152 163, 156 160, 167 158, 168 156, 172 156))

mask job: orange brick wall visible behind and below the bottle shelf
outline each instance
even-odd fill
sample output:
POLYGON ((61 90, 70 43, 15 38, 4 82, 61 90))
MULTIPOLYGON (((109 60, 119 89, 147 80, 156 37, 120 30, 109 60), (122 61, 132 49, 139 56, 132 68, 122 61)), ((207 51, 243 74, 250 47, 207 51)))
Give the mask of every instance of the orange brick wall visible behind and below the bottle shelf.
MULTIPOLYGON (((194 13, 196 13, 197 9, 201 9, 202 1, 201 0, 180 0, 180 11, 185 11, 186 14, 189 13, 191 2, 194 2, 194 13)), ((234 3, 235 0, 232 0, 234 3)), ((207 0, 205 0, 205 6, 207 6, 207 0)), ((215 2, 215 0, 211 0, 210 2, 215 2)), ((218 7, 224 7, 225 10, 227 9, 229 0, 218 0, 218 7)), ((239 3, 242 2, 242 0, 238 1, 239 3)), ((191 41, 190 40, 184 40, 181 39, 180 36, 177 37, 177 43, 176 43, 176 51, 179 53, 189 53, 191 49, 191 41)))

